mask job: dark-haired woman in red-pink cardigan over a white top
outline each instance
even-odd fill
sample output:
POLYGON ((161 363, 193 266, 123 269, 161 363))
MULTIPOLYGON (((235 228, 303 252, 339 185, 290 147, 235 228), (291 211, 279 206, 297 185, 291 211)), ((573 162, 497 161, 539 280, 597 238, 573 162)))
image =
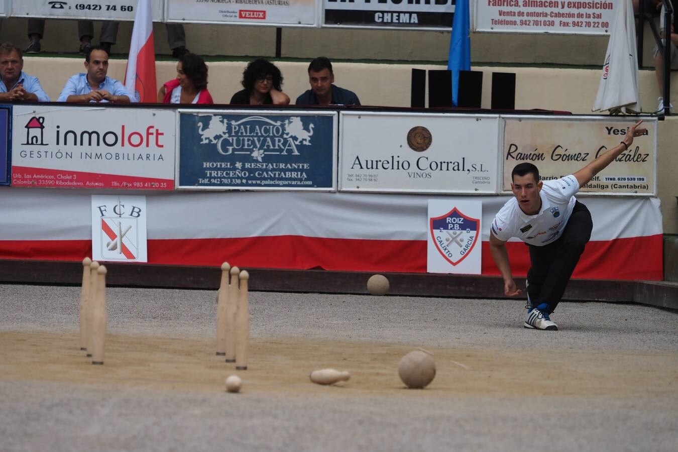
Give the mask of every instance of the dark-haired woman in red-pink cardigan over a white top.
POLYGON ((214 104, 207 91, 207 65, 195 54, 184 54, 176 64, 176 79, 165 83, 158 92, 163 104, 214 104))

